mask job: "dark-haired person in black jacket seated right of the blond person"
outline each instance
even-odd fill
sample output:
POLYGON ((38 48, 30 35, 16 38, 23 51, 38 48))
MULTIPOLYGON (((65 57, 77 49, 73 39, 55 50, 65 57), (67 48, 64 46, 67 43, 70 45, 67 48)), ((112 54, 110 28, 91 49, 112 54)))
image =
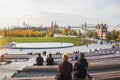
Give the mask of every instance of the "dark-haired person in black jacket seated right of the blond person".
POLYGON ((75 63, 73 68, 73 80, 85 80, 87 76, 88 62, 84 53, 80 53, 79 60, 75 63))

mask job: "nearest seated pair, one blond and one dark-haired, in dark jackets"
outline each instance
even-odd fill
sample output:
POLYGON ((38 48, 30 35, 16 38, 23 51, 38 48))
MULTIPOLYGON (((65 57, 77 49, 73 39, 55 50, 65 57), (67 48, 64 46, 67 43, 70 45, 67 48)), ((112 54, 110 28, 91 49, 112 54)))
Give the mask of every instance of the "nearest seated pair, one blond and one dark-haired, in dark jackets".
MULTIPOLYGON (((58 73, 61 74, 61 80, 85 80, 87 76, 87 69, 88 62, 85 58, 84 53, 80 54, 80 57, 74 66, 68 61, 68 55, 63 54, 62 63, 58 66, 58 73)), ((58 79, 56 78, 56 80, 58 79)))

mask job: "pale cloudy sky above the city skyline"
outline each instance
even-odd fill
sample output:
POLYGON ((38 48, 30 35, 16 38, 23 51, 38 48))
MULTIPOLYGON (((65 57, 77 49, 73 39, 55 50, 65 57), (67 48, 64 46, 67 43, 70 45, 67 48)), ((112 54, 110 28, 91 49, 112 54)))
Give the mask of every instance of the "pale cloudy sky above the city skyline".
POLYGON ((0 0, 0 28, 120 24, 120 0, 0 0))

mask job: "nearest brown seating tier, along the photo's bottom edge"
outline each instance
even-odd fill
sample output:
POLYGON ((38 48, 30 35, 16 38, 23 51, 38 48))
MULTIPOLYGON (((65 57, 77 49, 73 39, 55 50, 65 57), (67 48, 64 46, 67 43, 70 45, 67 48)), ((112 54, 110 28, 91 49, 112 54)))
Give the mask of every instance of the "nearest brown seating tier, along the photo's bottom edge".
MULTIPOLYGON (((94 80, 120 80, 120 71, 90 74, 94 80)), ((55 76, 6 78, 5 80, 55 80, 55 76)))

